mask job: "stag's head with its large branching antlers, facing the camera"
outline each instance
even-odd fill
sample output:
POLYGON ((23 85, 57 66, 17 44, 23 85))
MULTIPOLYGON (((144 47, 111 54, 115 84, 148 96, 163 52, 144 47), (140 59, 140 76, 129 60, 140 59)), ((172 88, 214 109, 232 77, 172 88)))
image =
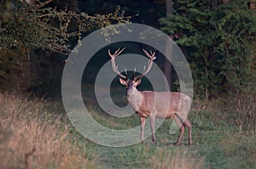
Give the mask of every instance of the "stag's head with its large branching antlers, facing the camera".
POLYGON ((151 69, 151 67, 153 65, 153 60, 156 57, 154 56, 155 52, 153 53, 150 50, 150 54, 148 54, 148 52, 145 49, 143 49, 143 52, 148 56, 148 59, 149 59, 148 60, 148 68, 146 69, 146 67, 144 66, 143 73, 141 75, 139 75, 139 76, 135 76, 135 72, 136 72, 136 68, 135 68, 133 76, 132 76, 132 79, 130 80, 128 75, 127 75, 127 71, 126 70, 125 70, 125 75, 123 75, 123 74, 121 74, 119 72, 118 65, 115 64, 115 60, 114 60, 124 50, 125 50, 125 48, 122 48, 121 50, 119 48, 118 50, 116 50, 114 52, 114 54, 111 54, 110 53, 110 49, 108 49, 108 55, 111 58, 111 64, 112 64, 113 71, 119 76, 119 82, 122 85, 125 85, 127 95, 131 96, 131 95, 133 95, 137 91, 137 85, 139 85, 142 82, 143 76, 145 76, 148 73, 148 71, 151 69))

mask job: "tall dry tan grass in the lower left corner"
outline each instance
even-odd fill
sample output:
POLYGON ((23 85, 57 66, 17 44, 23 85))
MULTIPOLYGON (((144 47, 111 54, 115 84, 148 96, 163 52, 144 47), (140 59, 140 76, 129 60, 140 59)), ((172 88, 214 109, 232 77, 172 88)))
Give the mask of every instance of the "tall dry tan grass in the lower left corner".
POLYGON ((0 168, 94 166, 69 133, 72 127, 66 117, 53 114, 49 107, 39 99, 0 95, 0 168))

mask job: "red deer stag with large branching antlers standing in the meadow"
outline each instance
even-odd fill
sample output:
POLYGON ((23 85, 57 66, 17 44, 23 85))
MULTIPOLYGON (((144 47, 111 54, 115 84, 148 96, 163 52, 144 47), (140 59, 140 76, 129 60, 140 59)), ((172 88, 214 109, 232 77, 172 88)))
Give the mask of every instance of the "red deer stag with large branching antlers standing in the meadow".
MULTIPOLYGON (((139 76, 133 74, 130 80, 125 70, 125 75, 121 74, 118 70, 118 66, 115 64, 115 58, 121 54, 125 48, 116 50, 114 54, 111 54, 110 49, 108 49, 108 55, 111 58, 111 64, 113 71, 119 76, 119 82, 126 87, 126 97, 128 103, 131 105, 132 109, 136 111, 137 115, 140 117, 140 128, 141 134, 140 139, 143 141, 143 132, 147 118, 149 117, 150 129, 152 132, 152 141, 155 142, 155 117, 173 119, 176 121, 177 125, 180 127, 179 137, 177 138, 177 143, 181 143, 183 138, 183 133, 185 127, 189 130, 189 145, 192 144, 191 138, 191 123, 187 118, 190 109, 190 98, 183 93, 177 92, 154 92, 154 91, 139 91, 137 86, 142 82, 142 77, 145 76, 153 65, 153 60, 156 58, 155 52, 150 51, 150 54, 143 49, 143 52, 148 57, 147 69, 143 70, 143 73, 139 76), (166 101, 168 101, 168 107, 166 107, 166 101)), ((136 70, 134 70, 135 73, 136 70)))

